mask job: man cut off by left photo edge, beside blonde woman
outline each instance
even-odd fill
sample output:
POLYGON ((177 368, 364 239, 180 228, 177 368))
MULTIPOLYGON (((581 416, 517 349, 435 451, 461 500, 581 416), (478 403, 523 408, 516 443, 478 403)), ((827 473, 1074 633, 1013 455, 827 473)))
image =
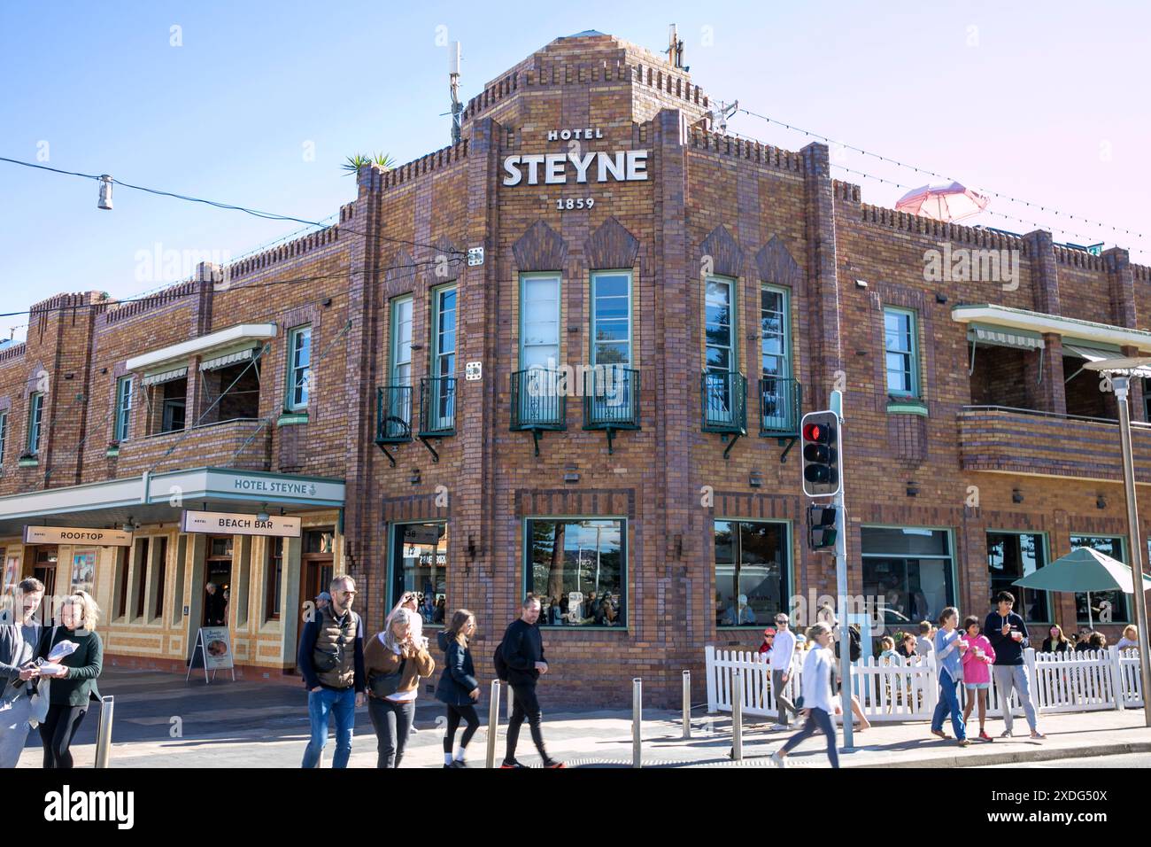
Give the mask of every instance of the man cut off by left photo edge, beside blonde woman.
POLYGON ((30 728, 31 695, 38 671, 32 664, 40 641, 36 611, 44 598, 44 583, 23 580, 15 605, 0 620, 0 767, 15 767, 30 728))

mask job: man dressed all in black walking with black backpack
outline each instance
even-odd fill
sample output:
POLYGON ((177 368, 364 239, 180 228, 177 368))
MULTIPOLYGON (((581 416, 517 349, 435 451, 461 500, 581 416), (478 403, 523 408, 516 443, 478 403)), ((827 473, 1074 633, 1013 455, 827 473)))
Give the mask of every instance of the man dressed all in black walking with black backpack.
POLYGON ((505 767, 526 767, 516 761, 516 744, 519 741, 519 727, 527 718, 532 731, 532 741, 543 759, 544 767, 563 767, 548 755, 543 747, 543 732, 540 724, 543 714, 540 712, 540 701, 535 696, 535 685, 541 674, 548 672, 547 659, 543 658, 543 637, 540 635, 540 600, 535 595, 524 598, 520 617, 513 620, 504 633, 500 644, 500 655, 508 665, 508 683, 512 690, 511 718, 508 720, 508 749, 504 751, 505 767))

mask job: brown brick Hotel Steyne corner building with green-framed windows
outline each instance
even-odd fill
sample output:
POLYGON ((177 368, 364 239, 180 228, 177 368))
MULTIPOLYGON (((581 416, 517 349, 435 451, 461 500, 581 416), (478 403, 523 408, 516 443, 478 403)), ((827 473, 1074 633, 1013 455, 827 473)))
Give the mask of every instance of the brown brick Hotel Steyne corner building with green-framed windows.
MULTIPOLYGON (((361 168, 331 229, 144 301, 38 304, 0 350, 8 578, 93 565, 109 656, 181 670, 215 581, 265 674, 333 570, 372 630, 405 590, 429 626, 473 610, 485 657, 534 590, 557 697, 619 704, 642 676, 669 702, 704 644, 833 593, 792 449, 833 388, 849 591, 889 629, 983 614, 1075 545, 1127 558, 1114 399, 1081 368, 1151 353, 1151 270, 869 205, 825 146, 716 134, 711 109, 645 50, 559 38, 466 104, 459 144, 361 168), (304 531, 180 531, 204 507, 304 531)), ((1110 635, 1134 617, 1091 600, 1110 635)), ((1020 605, 1085 623, 1085 597, 1020 605)))

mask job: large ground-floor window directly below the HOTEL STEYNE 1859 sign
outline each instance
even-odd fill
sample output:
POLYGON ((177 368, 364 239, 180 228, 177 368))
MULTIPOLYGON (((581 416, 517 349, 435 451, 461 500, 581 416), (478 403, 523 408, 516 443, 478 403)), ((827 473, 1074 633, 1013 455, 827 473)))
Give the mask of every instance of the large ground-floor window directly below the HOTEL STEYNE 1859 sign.
POLYGON ((627 626, 626 521, 533 519, 526 525, 527 590, 541 626, 627 626))

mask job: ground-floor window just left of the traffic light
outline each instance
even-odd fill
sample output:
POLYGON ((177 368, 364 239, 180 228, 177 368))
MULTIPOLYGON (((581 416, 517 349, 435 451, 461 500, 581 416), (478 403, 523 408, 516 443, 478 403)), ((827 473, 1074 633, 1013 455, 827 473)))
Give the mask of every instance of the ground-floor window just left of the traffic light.
POLYGON ((715 522, 717 627, 770 623, 791 596, 788 524, 715 522))

